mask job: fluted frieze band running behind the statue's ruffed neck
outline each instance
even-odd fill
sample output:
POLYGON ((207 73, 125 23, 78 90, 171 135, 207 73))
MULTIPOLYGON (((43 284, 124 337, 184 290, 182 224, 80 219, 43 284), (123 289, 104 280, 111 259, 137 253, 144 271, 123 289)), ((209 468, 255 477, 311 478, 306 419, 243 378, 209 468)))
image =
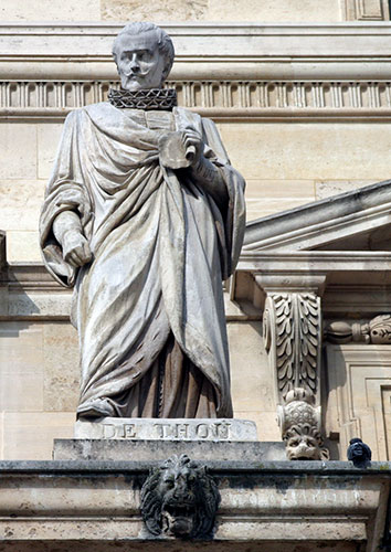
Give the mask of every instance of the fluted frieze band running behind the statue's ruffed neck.
MULTIPOLYGON (((391 82, 172 81, 178 104, 219 117, 391 116, 391 82)), ((0 117, 59 116, 107 99, 114 81, 3 81, 0 117)))

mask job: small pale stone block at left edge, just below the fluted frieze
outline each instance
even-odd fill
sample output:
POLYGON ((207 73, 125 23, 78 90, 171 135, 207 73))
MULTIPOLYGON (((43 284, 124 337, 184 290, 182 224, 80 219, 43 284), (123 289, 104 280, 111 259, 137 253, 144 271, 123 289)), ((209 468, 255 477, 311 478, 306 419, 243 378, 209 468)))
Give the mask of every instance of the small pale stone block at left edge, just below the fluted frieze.
POLYGON ((0 151, 0 179, 38 178, 35 124, 1 123, 0 151))

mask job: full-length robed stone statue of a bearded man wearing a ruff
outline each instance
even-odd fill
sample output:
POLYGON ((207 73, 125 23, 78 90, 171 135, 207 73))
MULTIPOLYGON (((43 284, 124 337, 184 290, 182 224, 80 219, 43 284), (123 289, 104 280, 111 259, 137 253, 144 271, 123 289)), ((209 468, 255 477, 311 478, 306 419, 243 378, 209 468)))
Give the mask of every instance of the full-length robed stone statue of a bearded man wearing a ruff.
POLYGON ((121 89, 67 116, 40 225, 47 269, 74 286, 77 416, 231 417, 222 280, 244 181, 214 124, 162 88, 161 29, 126 25, 113 55, 121 89))

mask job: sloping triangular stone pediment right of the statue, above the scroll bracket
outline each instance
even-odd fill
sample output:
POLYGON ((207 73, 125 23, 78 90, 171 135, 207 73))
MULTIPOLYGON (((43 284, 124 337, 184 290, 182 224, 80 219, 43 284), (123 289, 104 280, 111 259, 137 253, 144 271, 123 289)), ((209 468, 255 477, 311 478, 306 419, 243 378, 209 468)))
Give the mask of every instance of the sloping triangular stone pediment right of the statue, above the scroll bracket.
POLYGON ((243 253, 391 251, 391 180, 250 221, 243 253))

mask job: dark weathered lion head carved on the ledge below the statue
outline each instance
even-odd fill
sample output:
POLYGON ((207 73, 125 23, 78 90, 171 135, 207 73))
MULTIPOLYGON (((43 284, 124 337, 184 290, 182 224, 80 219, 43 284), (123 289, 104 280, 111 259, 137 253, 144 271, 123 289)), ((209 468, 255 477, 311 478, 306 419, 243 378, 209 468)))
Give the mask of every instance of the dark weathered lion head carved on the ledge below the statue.
POLYGON ((155 535, 210 538, 219 502, 213 479, 186 455, 152 470, 141 489, 144 521, 155 535))

